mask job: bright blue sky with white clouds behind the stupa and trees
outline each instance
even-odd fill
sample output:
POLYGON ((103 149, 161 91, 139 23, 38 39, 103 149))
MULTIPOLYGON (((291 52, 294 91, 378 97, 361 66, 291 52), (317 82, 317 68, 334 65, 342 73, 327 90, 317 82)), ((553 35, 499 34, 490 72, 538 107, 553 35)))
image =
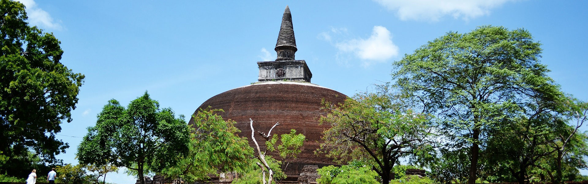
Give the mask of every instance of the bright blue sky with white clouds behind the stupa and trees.
POLYGON ((588 1, 21 2, 32 25, 61 41, 61 62, 86 75, 74 120, 59 133, 77 137, 58 136, 70 145, 58 155, 66 163, 76 163, 78 137, 111 98, 126 105, 148 90, 162 107, 189 116, 208 98, 255 82, 256 62, 275 59, 286 5, 296 59, 306 60, 313 83, 348 96, 390 81, 393 61, 447 31, 502 25, 528 29, 543 44, 550 77, 564 92, 588 100, 588 1))

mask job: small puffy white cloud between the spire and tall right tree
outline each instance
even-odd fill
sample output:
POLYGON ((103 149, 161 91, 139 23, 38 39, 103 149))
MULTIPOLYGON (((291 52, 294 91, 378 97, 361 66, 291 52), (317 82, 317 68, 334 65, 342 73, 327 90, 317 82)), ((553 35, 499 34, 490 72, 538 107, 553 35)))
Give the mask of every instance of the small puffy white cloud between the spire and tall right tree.
POLYGON ((372 35, 367 39, 346 40, 338 42, 335 47, 340 52, 353 53, 363 60, 365 67, 398 55, 398 46, 392 42, 392 34, 382 26, 374 26, 372 35))

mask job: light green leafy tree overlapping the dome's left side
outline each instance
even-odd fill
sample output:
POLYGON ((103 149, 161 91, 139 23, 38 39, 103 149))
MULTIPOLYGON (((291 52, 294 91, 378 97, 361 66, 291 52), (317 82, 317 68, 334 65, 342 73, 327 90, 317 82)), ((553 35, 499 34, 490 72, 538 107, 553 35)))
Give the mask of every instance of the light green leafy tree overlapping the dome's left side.
POLYGON ((248 170, 253 149, 245 137, 236 133, 235 121, 225 121, 216 114, 222 111, 201 109, 194 114, 195 132, 192 133, 188 155, 179 157, 176 165, 162 171, 171 178, 186 182, 206 180, 218 172, 248 170))

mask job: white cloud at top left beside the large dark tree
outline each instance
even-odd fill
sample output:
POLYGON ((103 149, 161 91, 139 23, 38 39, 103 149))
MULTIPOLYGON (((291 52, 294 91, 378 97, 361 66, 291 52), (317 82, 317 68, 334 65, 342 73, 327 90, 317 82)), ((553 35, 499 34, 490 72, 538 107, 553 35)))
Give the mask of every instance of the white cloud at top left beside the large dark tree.
POLYGON ((25 5, 26 16, 29 17, 29 23, 49 29, 61 30, 61 24, 54 21, 48 12, 39 8, 34 0, 18 0, 25 5))

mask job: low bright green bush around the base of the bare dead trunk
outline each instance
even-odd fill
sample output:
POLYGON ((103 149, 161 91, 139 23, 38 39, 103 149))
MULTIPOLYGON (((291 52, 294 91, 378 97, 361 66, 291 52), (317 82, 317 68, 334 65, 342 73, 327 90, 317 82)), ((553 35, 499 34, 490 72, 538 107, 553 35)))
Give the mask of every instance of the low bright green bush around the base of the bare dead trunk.
MULTIPOLYGON (((284 172, 282 172, 282 169, 280 169, 282 162, 280 162, 279 160, 273 159, 273 157, 271 156, 266 156, 266 162, 268 162, 269 167, 272 168, 274 174, 273 174, 273 178, 278 180, 278 179, 283 179, 286 178, 286 174, 284 172)), ((262 172, 262 167, 260 167, 257 163, 256 163, 256 159, 250 160, 248 163, 250 163, 250 165, 248 167, 245 168, 245 170, 243 170, 242 172, 239 173, 239 178, 236 180, 233 180, 233 184, 262 184, 262 178, 263 178, 263 172, 262 172)), ((267 172, 266 172, 267 175, 267 172)), ((267 178, 267 176, 266 176, 267 178)), ((276 183, 275 180, 272 181, 272 183, 276 183)))

